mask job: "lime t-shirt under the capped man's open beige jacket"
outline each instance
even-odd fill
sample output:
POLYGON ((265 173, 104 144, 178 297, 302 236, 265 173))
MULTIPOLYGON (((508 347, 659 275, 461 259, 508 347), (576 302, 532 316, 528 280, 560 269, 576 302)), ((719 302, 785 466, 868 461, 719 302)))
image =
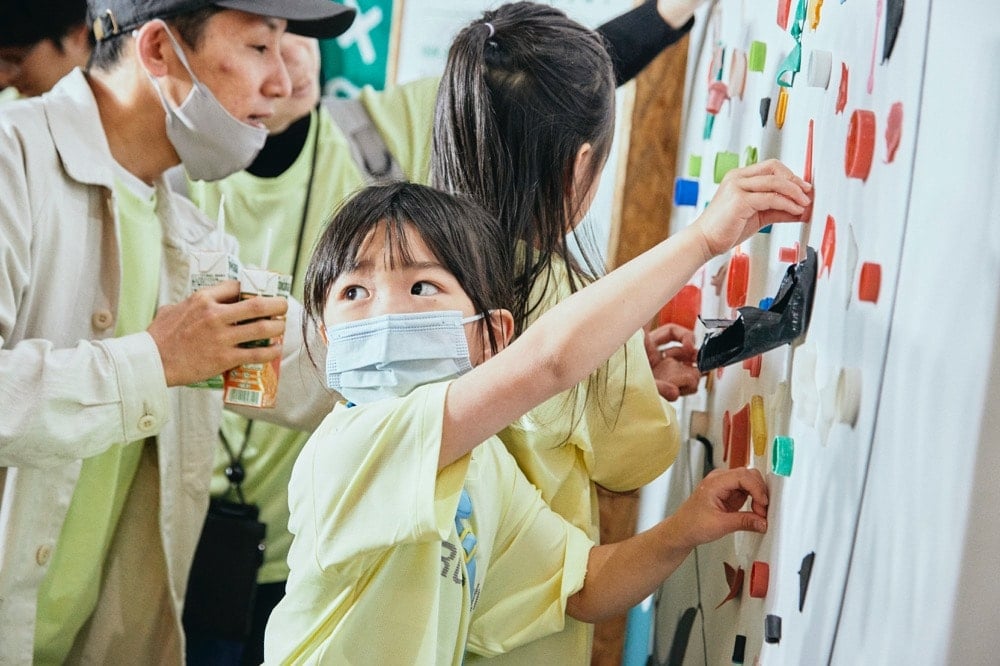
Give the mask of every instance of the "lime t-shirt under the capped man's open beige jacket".
MULTIPOLYGON (((116 335, 143 331, 156 312, 162 230, 156 191, 124 171, 115 187, 122 286, 116 335)), ((83 461, 66 521, 38 590, 35 664, 61 664, 93 613, 104 560, 142 455, 142 442, 83 461)))

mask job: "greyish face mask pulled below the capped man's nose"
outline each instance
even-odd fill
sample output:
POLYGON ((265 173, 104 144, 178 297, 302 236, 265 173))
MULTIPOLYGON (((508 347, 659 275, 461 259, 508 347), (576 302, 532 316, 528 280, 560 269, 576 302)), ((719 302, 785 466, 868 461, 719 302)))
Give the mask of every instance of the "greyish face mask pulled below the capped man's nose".
POLYGON ((267 129, 241 122, 226 111, 191 71, 184 51, 165 23, 164 29, 192 82, 191 92, 174 109, 160 88, 160 82, 146 73, 167 112, 167 138, 188 175, 195 180, 219 180, 242 171, 264 147, 267 129))

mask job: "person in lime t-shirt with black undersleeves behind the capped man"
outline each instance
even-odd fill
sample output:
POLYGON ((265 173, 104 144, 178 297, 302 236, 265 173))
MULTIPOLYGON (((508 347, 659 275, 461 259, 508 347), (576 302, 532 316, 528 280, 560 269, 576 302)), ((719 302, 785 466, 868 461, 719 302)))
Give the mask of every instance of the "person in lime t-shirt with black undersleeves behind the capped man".
MULTIPOLYGON (((618 82, 633 78, 685 34, 691 27, 689 18, 684 3, 660 0, 646 2, 599 27, 609 51, 615 54, 618 82), (681 27, 674 29, 668 20, 681 27)), ((187 179, 179 189, 210 215, 215 215, 224 202, 227 229, 239 239, 244 261, 259 261, 270 238, 270 268, 292 274, 292 293, 299 296, 310 250, 331 212, 365 184, 367 175, 352 157, 350 142, 325 103, 320 103, 317 43, 286 35, 282 55, 292 92, 275 103, 274 115, 265 120, 270 134, 261 153, 245 171, 216 182, 187 179)), ((372 126, 408 180, 428 179, 437 87, 438 80, 431 78, 386 91, 366 88, 361 93, 360 102, 372 126)), ((688 340, 689 333, 664 329, 660 335, 666 342, 688 340)), ((671 350, 672 354, 680 352, 671 350)), ((682 390, 676 386, 685 392, 693 391, 699 377, 690 362, 682 361, 676 361, 662 376, 670 385, 668 390, 674 392, 673 397, 682 390)), ((241 658, 244 664, 262 660, 264 627, 271 609, 284 594, 292 540, 287 529, 288 482, 308 435, 229 412, 224 415, 212 494, 229 499, 235 496, 225 470, 234 458, 238 459, 245 470, 241 491, 247 502, 259 506, 260 519, 267 524, 253 623, 241 658)), ((192 663, 218 663, 223 650, 219 642, 197 637, 189 644, 189 659, 192 663)), ((231 644, 224 650, 229 655, 239 653, 239 647, 231 644)))

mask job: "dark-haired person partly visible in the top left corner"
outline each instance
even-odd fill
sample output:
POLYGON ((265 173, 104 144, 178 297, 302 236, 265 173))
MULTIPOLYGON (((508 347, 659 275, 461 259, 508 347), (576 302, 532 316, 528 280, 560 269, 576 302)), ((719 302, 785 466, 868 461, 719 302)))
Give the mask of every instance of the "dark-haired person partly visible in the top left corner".
POLYGON ((0 96, 48 92, 90 57, 86 0, 0 0, 0 96))

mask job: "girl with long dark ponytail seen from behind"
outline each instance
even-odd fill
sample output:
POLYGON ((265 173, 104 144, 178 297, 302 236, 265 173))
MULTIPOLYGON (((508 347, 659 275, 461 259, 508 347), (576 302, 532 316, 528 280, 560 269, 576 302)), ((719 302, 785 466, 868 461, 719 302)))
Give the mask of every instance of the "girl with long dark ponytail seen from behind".
MULTIPOLYGON (((658 6, 671 6, 684 25, 698 4, 658 6)), ((472 197, 503 225, 502 250, 513 267, 515 338, 603 272, 586 242, 577 243, 583 248, 578 259, 567 237, 589 208, 610 151, 615 70, 599 34, 531 2, 485 12, 449 50, 431 182, 472 197)), ((608 312, 609 319, 616 316, 608 312)), ((647 357, 640 328, 586 381, 499 434, 546 503, 594 541, 600 536, 599 489, 642 487, 669 467, 680 445, 676 414, 661 396, 667 387, 657 385, 655 359, 647 357)), ((694 390, 693 335, 679 327, 656 331, 664 333, 657 343, 669 336, 682 342, 673 353, 684 355, 678 365, 693 374, 687 388, 694 390)), ((672 388, 676 398, 680 391, 672 388)), ((592 625, 567 618, 563 631, 496 659, 581 664, 589 660, 592 640, 592 625)))

